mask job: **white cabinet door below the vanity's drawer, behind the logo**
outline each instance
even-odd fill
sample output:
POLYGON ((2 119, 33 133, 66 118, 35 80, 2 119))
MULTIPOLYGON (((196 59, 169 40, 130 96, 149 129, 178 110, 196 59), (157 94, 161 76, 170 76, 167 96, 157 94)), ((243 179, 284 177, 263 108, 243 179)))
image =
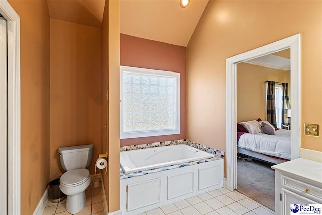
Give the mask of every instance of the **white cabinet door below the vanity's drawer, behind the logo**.
POLYGON ((290 209, 291 204, 318 204, 318 203, 282 188, 282 214, 283 215, 289 215, 291 213, 291 209, 290 209))

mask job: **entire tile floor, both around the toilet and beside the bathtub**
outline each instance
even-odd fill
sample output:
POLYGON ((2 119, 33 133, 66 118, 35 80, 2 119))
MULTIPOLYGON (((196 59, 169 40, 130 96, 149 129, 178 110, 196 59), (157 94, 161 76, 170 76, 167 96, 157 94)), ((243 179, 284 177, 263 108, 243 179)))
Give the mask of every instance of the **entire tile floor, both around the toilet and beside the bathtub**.
MULTIPOLYGON (((84 209, 77 213, 79 215, 103 215, 103 200, 101 188, 86 190, 86 204, 84 209)), ((66 211, 66 200, 59 203, 47 202, 43 215, 68 215, 66 211)), ((225 188, 212 190, 182 201, 175 202, 163 207, 150 210, 140 215, 273 215, 274 212, 261 204, 247 198, 236 191, 230 192, 225 188)))

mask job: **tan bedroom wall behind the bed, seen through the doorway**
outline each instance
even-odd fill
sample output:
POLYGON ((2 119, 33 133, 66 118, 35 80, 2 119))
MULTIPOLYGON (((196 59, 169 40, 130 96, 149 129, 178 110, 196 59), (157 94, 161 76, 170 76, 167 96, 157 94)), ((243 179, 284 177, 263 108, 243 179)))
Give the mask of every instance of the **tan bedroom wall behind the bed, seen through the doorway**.
POLYGON ((264 82, 287 82, 288 75, 289 71, 248 63, 237 64, 237 122, 257 118, 266 120, 264 82))

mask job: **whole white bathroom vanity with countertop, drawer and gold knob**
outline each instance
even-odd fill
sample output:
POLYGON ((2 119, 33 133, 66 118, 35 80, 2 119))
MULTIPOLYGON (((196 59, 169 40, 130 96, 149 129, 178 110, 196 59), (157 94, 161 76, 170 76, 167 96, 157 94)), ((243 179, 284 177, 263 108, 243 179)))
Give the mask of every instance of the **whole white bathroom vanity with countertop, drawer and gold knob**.
POLYGON ((291 204, 322 204, 322 163, 303 158, 272 166, 275 214, 290 214, 291 204))

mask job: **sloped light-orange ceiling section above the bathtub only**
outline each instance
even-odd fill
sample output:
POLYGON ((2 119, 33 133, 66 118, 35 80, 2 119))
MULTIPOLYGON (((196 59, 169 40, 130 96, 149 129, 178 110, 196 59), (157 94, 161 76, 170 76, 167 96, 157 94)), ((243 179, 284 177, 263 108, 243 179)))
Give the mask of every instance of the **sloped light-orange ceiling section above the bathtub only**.
POLYGON ((187 46, 208 0, 120 0, 120 32, 150 40, 187 46))

